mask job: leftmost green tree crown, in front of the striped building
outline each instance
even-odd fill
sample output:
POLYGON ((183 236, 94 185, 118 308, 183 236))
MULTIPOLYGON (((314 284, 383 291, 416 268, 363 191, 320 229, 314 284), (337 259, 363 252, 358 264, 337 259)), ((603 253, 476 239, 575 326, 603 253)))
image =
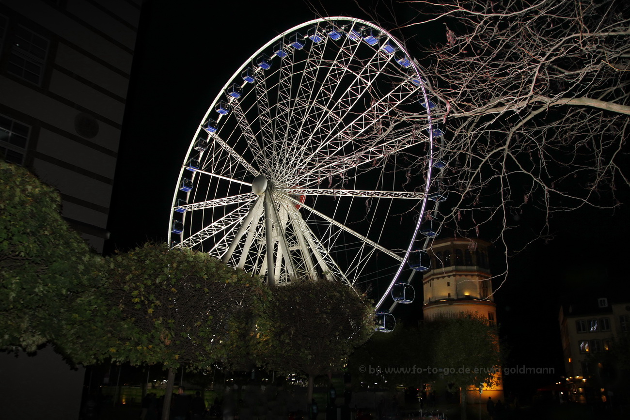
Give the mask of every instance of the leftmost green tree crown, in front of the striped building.
POLYGON ((71 333, 98 286, 101 258, 60 203, 52 186, 0 161, 0 348, 35 351, 71 333))

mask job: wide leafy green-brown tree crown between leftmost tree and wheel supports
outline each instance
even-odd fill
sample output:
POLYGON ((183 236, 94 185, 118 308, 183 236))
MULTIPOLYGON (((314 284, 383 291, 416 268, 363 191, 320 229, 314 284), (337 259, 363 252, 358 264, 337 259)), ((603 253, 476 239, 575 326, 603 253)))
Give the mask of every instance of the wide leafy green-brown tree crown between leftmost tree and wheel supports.
POLYGON ((146 244, 108 259, 98 358, 208 368, 244 356, 260 282, 205 253, 146 244), (243 332, 243 329, 245 330, 243 332))

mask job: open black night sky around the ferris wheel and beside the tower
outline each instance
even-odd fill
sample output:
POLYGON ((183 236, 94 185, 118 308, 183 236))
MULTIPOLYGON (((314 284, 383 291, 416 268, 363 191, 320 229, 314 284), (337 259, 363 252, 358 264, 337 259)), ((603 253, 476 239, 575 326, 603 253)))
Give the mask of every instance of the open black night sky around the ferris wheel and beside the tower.
MULTIPOLYGON (((264 1, 249 6, 236 1, 185 1, 173 8, 169 0, 147 1, 123 123, 106 253, 146 241, 166 241, 173 191, 195 130, 219 89, 263 43, 321 16, 372 20, 354 3, 325 3, 264 1)), ((361 3, 370 9, 367 2, 361 3)), ((379 6, 384 17, 379 21, 388 30, 394 26, 390 6, 382 2, 379 6)), ((408 6, 394 8, 399 22, 411 16, 408 6)), ((413 48, 410 51, 413 55, 413 48)), ((508 386, 511 381, 542 386, 563 374, 558 311, 567 290, 603 297, 625 287, 621 263, 627 258, 626 246, 621 244, 628 234, 627 215, 624 207, 616 212, 583 209, 558 215, 552 220, 553 241, 537 242, 510 259, 508 280, 495 294, 501 336, 512 349, 507 365, 553 366, 558 375, 506 378, 508 386)), ((527 229, 527 215, 521 224, 527 229)), ((495 273, 503 269, 498 251, 495 273)), ((419 314, 421 300, 417 300, 401 309, 399 316, 413 319, 419 314)))

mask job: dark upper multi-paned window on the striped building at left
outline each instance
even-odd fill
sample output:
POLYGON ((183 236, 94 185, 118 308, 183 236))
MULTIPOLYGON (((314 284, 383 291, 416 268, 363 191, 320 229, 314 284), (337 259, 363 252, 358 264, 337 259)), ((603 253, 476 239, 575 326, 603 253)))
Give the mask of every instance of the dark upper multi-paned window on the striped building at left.
POLYGON ((9 54, 7 71, 29 82, 40 84, 48 40, 23 26, 16 26, 9 54))

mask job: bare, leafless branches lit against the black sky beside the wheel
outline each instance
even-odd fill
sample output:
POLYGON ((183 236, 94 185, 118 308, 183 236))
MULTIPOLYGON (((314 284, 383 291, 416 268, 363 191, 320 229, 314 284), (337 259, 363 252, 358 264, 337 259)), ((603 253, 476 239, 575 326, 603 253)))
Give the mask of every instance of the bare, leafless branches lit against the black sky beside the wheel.
POLYGON ((447 128, 438 139, 445 223, 461 236, 505 240, 526 220, 520 234, 530 230, 530 240, 553 233, 554 212, 619 204, 628 186, 629 3, 406 3, 418 15, 401 27, 439 35, 420 52, 412 40, 408 47, 439 105, 435 122, 447 128))

